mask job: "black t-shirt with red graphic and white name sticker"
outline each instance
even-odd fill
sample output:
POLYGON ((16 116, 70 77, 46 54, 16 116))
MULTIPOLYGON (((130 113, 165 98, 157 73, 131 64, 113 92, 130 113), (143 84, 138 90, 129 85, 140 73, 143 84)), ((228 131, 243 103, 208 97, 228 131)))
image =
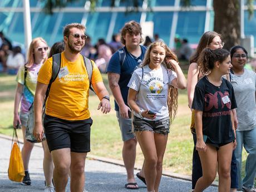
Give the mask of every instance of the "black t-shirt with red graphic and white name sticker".
POLYGON ((229 143, 234 140, 231 113, 237 108, 234 89, 228 80, 222 78, 220 87, 203 77, 195 86, 192 108, 203 111, 203 134, 211 142, 229 143))

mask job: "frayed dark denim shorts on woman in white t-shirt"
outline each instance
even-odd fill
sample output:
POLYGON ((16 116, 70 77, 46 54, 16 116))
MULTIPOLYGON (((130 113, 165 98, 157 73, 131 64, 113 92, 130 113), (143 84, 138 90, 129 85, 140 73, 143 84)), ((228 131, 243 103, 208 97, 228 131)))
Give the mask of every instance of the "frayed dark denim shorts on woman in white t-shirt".
POLYGON ((170 133, 169 117, 160 120, 145 120, 134 116, 132 123, 134 124, 134 132, 149 131, 162 135, 170 133))

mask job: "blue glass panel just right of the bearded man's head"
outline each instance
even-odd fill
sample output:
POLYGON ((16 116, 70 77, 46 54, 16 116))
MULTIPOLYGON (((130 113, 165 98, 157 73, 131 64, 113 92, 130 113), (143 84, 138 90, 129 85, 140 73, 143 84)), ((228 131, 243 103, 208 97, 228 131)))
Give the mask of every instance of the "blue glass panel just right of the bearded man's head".
POLYGON ((86 23, 86 33, 91 37, 91 43, 95 44, 99 38, 106 40, 112 13, 90 13, 86 23))

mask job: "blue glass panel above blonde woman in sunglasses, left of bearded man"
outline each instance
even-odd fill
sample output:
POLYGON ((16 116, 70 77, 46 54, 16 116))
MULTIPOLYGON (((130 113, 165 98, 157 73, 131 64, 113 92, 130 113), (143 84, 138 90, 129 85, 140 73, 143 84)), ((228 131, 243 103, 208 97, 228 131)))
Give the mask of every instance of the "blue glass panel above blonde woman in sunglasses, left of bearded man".
POLYGON ((50 42, 53 29, 55 27, 60 27, 56 26, 57 16, 58 13, 53 13, 52 15, 40 13, 35 26, 32 28, 32 37, 42 37, 49 45, 53 44, 54 42, 50 42))

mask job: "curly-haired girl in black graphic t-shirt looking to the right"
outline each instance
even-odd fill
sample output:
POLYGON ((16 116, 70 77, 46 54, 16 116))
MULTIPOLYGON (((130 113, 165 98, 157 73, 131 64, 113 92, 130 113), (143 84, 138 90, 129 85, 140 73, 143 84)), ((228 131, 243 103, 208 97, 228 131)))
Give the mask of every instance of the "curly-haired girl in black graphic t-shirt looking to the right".
POLYGON ((232 128, 232 109, 237 108, 234 90, 222 78, 232 67, 227 50, 206 48, 198 64, 205 75, 196 84, 192 108, 195 109, 196 150, 198 150, 203 176, 194 191, 203 191, 215 179, 217 163, 219 191, 230 190, 230 163, 235 148, 232 128))

